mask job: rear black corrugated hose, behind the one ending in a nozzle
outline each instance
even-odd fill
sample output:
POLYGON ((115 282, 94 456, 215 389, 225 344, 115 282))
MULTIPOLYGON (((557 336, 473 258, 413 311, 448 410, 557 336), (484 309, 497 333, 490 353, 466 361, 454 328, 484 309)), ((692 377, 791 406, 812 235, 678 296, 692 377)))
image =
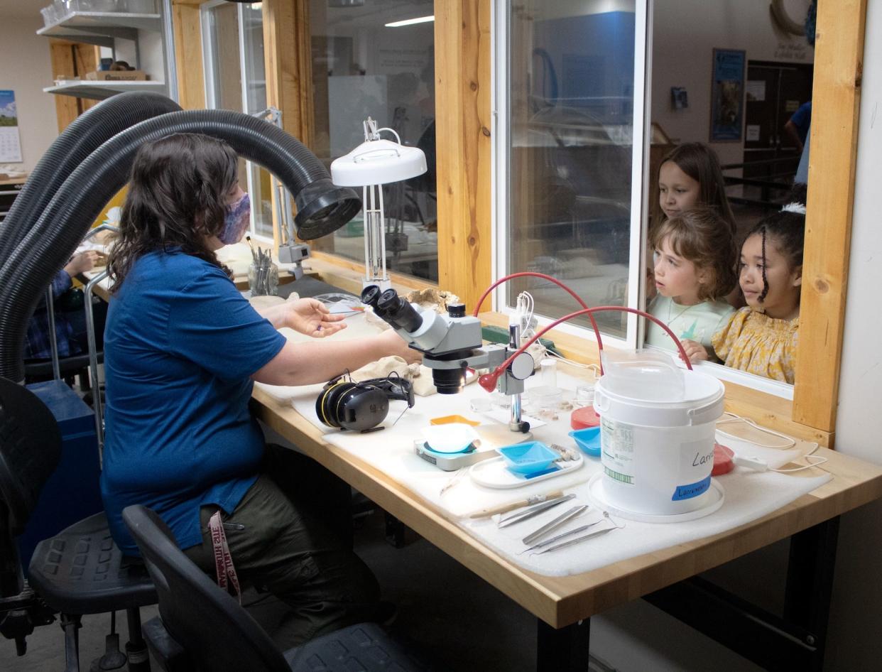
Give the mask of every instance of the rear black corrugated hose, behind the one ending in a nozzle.
POLYGON ((0 264, 19 246, 55 192, 89 154, 130 126, 175 112, 180 106, 159 93, 111 96, 78 116, 43 154, 13 202, 0 234, 0 264))

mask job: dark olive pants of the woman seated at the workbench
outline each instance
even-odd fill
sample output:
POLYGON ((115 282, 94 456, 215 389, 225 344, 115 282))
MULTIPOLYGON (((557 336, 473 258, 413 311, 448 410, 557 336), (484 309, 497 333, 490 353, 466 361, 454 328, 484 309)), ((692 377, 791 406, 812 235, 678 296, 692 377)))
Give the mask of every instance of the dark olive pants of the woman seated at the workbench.
MULTIPOLYGON (((267 445, 262 474, 231 514, 221 511, 240 584, 276 595, 292 609, 295 644, 381 618, 377 579, 352 550, 349 486, 314 460, 267 445)), ((202 544, 184 549, 215 578, 208 519, 202 544)))

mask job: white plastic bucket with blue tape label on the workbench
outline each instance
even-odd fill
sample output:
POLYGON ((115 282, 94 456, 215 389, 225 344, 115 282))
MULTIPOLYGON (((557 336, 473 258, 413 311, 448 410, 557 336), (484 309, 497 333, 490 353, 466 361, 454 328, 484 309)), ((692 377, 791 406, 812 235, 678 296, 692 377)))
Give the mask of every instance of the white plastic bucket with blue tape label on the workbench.
POLYGON ((601 377, 594 410, 601 416, 603 491, 611 506, 665 515, 702 508, 714 468, 715 422, 723 411, 719 380, 684 371, 676 401, 613 392, 601 377))

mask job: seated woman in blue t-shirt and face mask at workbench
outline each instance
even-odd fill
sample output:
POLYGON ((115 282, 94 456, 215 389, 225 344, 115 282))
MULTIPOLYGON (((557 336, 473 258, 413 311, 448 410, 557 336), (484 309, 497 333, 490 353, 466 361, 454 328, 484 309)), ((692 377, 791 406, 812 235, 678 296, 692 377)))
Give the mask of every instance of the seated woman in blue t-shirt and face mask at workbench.
POLYGON ((233 149, 207 136, 138 150, 108 261, 101 492, 125 553, 138 552, 122 521, 129 504, 157 511, 209 573, 209 527, 220 527, 238 574, 293 609, 299 643, 382 609, 376 579, 351 550, 348 486, 295 452, 265 447, 248 408, 253 381, 320 383, 381 356, 418 354, 391 330, 290 343, 278 328, 321 338, 343 328, 342 317, 312 299, 250 306, 215 256, 249 225, 237 170, 233 149))

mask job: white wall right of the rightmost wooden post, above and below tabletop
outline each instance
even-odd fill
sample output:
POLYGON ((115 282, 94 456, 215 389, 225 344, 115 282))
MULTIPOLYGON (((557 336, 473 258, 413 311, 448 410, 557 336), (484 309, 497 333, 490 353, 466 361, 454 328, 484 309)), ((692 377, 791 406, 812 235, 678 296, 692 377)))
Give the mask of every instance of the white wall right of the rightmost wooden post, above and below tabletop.
MULTIPOLYGON (((842 347, 836 449, 882 464, 878 422, 882 396, 882 6, 867 3, 863 92, 858 127, 845 340, 842 347)), ((882 504, 843 516, 830 618, 828 669, 878 669, 882 660, 882 504), (854 642, 854 644, 849 644, 854 642)))

